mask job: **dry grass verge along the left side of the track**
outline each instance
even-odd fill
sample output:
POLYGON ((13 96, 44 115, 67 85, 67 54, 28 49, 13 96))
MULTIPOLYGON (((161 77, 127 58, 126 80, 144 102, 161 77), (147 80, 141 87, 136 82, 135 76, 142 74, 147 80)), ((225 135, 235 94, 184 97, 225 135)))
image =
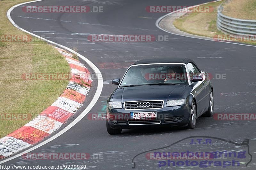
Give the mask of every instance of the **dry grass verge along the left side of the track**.
MULTIPOLYGON (((0 1, 0 35, 26 35, 15 28, 6 12, 29 0, 0 1)), ((68 80, 24 80, 23 73, 69 73, 65 58, 44 41, 0 41, 0 138, 22 127, 49 107, 65 90, 68 80), (6 120, 7 114, 31 114, 28 120, 6 120)))

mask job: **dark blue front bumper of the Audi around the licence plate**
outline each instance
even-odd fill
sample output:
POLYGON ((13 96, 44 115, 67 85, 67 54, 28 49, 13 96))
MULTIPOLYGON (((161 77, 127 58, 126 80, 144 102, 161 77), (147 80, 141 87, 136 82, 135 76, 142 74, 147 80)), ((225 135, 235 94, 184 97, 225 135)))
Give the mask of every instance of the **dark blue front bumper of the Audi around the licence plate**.
POLYGON ((114 129, 132 129, 150 126, 186 126, 190 119, 188 105, 163 107, 150 110, 124 110, 107 108, 107 122, 114 129), (131 119, 131 112, 157 112, 155 119, 131 119), (174 117, 178 121, 174 121, 174 117), (117 123, 114 123, 114 120, 117 123))

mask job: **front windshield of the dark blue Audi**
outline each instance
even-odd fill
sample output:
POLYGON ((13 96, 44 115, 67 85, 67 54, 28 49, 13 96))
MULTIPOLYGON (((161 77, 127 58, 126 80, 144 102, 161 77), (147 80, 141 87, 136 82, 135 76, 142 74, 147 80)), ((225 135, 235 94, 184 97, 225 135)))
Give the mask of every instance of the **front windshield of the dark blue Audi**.
POLYGON ((120 86, 180 84, 188 84, 184 65, 157 64, 130 67, 120 86))

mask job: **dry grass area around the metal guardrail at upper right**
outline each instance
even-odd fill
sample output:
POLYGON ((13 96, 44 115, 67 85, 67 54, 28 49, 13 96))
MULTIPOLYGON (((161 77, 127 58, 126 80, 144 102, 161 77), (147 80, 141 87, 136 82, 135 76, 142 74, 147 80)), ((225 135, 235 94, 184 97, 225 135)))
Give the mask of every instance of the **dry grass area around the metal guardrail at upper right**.
MULTIPOLYGON (((237 1, 237 0, 234 0, 234 1, 237 1)), ((245 0, 245 1, 256 1, 256 0, 245 0)), ((227 3, 229 4, 232 2, 233 0, 228 1, 227 3)), ((179 30, 193 34, 193 35, 199 35, 199 36, 205 36, 205 37, 214 37, 215 35, 224 35, 224 33, 222 33, 217 29, 217 23, 216 23, 217 21, 216 9, 221 3, 223 3, 223 0, 219 2, 213 2, 213 3, 201 5, 201 6, 212 6, 213 9, 215 9, 215 11, 186 13, 180 18, 177 18, 173 22, 173 25, 179 30)), ((243 0, 243 3, 244 3, 244 0, 243 0)), ((239 5, 240 3, 236 3, 236 4, 239 5)), ((233 10, 228 10, 228 9, 232 9, 233 7, 231 8, 231 6, 228 6, 227 4, 224 4, 223 6, 227 6, 227 12, 223 12, 223 14, 227 15, 228 11, 233 11, 233 10)), ((238 11, 235 10, 233 12, 238 13, 239 15, 238 11)), ((250 15, 254 15, 254 14, 250 14, 250 15)), ((253 42, 253 41, 243 42, 243 43, 256 45, 256 42, 253 42)))

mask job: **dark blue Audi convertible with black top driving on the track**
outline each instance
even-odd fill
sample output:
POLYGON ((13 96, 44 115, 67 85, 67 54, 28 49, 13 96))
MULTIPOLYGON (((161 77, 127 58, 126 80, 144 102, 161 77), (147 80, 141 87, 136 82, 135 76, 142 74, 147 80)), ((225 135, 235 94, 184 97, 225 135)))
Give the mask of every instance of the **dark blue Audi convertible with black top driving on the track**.
POLYGON ((213 115, 213 87, 206 72, 189 58, 146 59, 132 64, 107 102, 109 134, 149 126, 196 127, 213 115))

